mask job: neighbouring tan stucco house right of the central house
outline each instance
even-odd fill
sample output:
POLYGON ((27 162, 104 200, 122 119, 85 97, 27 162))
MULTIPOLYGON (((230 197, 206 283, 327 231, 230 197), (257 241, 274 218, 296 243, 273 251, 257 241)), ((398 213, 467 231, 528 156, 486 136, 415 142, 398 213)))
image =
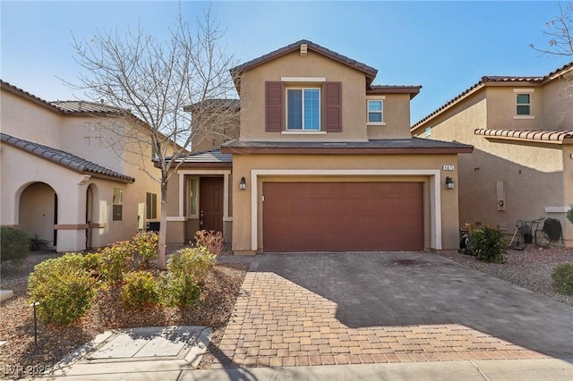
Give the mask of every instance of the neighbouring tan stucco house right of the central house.
POLYGON ((517 220, 560 220, 573 204, 573 63, 539 77, 483 77, 412 134, 475 147, 459 160, 459 221, 511 236, 517 220))

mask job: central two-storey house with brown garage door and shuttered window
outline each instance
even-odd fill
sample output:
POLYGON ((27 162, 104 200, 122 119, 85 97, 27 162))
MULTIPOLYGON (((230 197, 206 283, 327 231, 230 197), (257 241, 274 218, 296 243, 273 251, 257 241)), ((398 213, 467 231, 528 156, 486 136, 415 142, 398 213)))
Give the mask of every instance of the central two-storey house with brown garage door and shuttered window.
POLYGON ((307 40, 232 69, 239 139, 172 177, 168 240, 201 227, 235 254, 457 250, 458 153, 472 147, 412 138, 420 87, 376 73, 307 40))

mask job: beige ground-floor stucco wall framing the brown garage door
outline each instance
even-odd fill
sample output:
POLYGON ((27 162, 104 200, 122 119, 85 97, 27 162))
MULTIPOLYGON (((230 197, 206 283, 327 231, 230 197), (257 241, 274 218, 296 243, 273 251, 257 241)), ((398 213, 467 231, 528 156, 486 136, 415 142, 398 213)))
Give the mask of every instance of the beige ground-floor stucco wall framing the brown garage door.
MULTIPOLYGON (((442 165, 458 166, 456 155, 416 156, 416 155, 235 155, 234 187, 238 188, 241 176, 251 179, 253 170, 285 170, 289 174, 258 176, 257 184, 248 183, 247 190, 233 194, 233 250, 235 253, 252 252, 252 190, 261 195, 262 182, 423 182, 424 190, 424 247, 432 248, 431 205, 434 202, 431 178, 427 174, 409 175, 365 175, 368 170, 433 170, 440 174, 440 218, 443 250, 458 249, 458 193, 457 190, 443 190, 443 179, 452 176, 458 182, 456 171, 442 173, 442 165), (296 170, 312 169, 315 174, 301 176, 296 170), (321 170, 348 170, 353 175, 320 174, 321 170), (362 174, 361 174, 362 171, 362 174), (256 188, 255 188, 256 187, 256 188)), ((257 206, 257 250, 264 250, 262 242, 262 200, 257 206)))

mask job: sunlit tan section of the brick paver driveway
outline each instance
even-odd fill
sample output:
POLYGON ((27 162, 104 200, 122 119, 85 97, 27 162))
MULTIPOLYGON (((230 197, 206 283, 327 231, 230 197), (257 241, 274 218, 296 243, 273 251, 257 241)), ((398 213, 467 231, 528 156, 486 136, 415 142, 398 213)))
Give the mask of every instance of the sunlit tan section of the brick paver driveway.
POLYGON ((541 359, 459 324, 349 327, 337 304, 272 272, 250 272, 211 368, 541 359))

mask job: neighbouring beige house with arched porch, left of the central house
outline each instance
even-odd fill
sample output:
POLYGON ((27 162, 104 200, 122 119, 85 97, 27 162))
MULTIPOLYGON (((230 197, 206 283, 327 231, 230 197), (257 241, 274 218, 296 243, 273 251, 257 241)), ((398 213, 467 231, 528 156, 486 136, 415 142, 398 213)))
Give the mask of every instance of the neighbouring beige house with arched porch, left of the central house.
POLYGON ((158 173, 151 149, 141 157, 109 147, 115 137, 98 127, 113 122, 133 131, 117 109, 47 102, 1 86, 3 226, 20 227, 57 251, 77 251, 127 240, 158 219, 159 184, 140 169, 158 173))

